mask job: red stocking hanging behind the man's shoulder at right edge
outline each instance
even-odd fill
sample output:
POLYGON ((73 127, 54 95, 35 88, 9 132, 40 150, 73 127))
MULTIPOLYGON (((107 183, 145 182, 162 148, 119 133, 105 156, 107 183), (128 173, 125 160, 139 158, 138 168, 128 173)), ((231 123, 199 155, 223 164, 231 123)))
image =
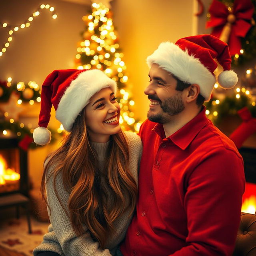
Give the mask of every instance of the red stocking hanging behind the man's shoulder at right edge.
POLYGON ((252 118, 247 107, 238 110, 237 113, 243 122, 232 132, 229 138, 233 140, 237 148, 241 148, 243 142, 256 132, 256 118, 252 118))

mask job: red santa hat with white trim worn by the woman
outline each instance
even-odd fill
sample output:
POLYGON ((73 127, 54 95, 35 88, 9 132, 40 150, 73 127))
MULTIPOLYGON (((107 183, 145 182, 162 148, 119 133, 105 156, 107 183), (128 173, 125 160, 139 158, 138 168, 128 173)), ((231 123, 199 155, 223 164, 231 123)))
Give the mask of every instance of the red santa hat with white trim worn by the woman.
POLYGON ((116 82, 101 70, 54 70, 42 84, 39 127, 34 130, 34 142, 46 145, 51 140, 47 126, 52 105, 56 110, 56 119, 70 132, 76 117, 90 98, 106 87, 116 92, 116 82))

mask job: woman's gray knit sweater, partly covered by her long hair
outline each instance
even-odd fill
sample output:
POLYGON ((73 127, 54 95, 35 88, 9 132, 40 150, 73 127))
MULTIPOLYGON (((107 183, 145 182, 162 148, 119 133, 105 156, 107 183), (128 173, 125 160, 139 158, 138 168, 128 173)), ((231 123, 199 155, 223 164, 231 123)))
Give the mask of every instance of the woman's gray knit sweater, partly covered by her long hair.
MULTIPOLYGON (((138 164, 142 153, 142 143, 138 135, 132 132, 125 132, 125 134, 130 150, 130 170, 138 183, 138 164)), ((92 142, 91 144, 98 153, 99 167, 103 168, 109 142, 92 142)), ((53 170, 54 166, 50 168, 50 171, 53 170)), ((70 194, 64 189, 61 174, 56 178, 56 188, 62 204, 67 206, 70 194)), ((50 178, 46 184, 46 194, 48 204, 51 208, 51 224, 48 227, 48 233, 44 235, 42 243, 34 249, 34 256, 39 252, 45 251, 56 252, 62 256, 112 256, 115 254, 118 244, 120 244, 125 237, 126 230, 132 218, 128 216, 128 211, 120 218, 116 219, 114 222, 116 234, 108 238, 105 249, 102 250, 99 248, 99 243, 92 240, 88 231, 82 236, 76 236, 70 219, 63 210, 54 192, 53 178, 50 178)))

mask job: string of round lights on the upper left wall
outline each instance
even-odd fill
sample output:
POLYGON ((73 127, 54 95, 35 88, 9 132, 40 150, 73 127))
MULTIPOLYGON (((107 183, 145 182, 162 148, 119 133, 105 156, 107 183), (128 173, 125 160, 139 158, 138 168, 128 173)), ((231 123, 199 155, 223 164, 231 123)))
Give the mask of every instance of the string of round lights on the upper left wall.
MULTIPOLYGON (((50 7, 49 4, 46 4, 46 5, 41 4, 40 7, 38 8, 38 10, 36 10, 36 12, 34 12, 34 13, 32 14, 32 16, 33 16, 33 17, 39 16, 39 15, 40 15, 39 10, 40 10, 40 9, 44 9, 44 8, 45 8, 45 9, 49 9, 49 8, 50 8, 49 11, 53 13, 53 14, 52 14, 52 18, 53 18, 53 19, 56 19, 56 18, 57 18, 57 15, 54 13, 55 8, 54 8, 54 7, 50 7)), ((24 23, 20 24, 19 26, 13 26, 13 25, 11 25, 11 24, 7 24, 6 22, 4 22, 4 23, 2 24, 3 28, 8 28, 8 30, 9 30, 8 34, 9 34, 10 36, 9 36, 8 39, 7 39, 8 42, 11 42, 11 41, 12 41, 11 35, 13 35, 14 32, 17 32, 17 31, 19 30, 19 28, 22 28, 22 29, 23 29, 23 28, 28 28, 28 27, 30 26, 30 22, 32 22, 32 20, 34 19, 32 16, 30 16, 24 23)), ((5 47, 8 47, 8 46, 9 46, 9 43, 8 43, 8 42, 3 43, 3 45, 5 45, 5 47), (8 44, 8 46, 6 46, 6 44, 8 44)), ((0 51, 0 57, 3 56, 3 53, 5 53, 5 52, 6 52, 6 48, 2 48, 2 51, 0 51)))

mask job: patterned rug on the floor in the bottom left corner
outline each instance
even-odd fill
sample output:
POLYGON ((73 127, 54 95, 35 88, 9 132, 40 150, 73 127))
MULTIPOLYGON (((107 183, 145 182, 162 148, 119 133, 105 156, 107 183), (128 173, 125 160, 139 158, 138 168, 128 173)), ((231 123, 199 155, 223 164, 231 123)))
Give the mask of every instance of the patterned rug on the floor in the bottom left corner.
POLYGON ((26 216, 22 216, 19 220, 15 218, 5 220, 4 222, 1 220, 0 256, 4 255, 1 252, 1 250, 4 251, 4 248, 24 256, 32 256, 33 249, 42 242, 48 225, 47 222, 39 222, 32 218, 32 234, 29 234, 26 216))

